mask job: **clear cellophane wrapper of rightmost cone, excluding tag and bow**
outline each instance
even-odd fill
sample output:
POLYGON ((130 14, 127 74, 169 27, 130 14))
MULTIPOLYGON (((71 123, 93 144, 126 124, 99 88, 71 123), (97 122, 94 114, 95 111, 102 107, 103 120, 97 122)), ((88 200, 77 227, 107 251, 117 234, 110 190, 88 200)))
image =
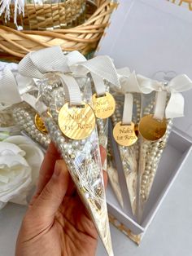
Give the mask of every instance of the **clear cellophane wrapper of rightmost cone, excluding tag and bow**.
MULTIPOLYGON (((142 95, 142 117, 148 114, 154 114, 156 93, 152 92, 148 95, 142 95)), ((170 95, 167 96, 169 99, 170 95)), ((167 100, 168 100, 167 99, 167 100)), ((142 214, 146 202, 150 196, 151 187, 155 179, 158 164, 162 156, 162 152, 168 142, 168 136, 172 130, 172 119, 167 119, 167 130, 165 135, 152 142, 143 139, 139 135, 139 168, 138 168, 138 203, 137 203, 137 220, 142 222, 142 214)))

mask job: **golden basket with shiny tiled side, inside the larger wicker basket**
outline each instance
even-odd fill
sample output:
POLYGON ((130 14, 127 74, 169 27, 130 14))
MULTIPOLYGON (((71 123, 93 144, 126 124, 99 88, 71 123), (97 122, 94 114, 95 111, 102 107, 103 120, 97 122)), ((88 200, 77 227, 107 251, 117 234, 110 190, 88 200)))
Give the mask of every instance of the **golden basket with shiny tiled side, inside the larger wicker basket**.
MULTIPOLYGON (((35 2, 34 0, 28 0, 25 3, 24 17, 22 14, 17 15, 17 25, 24 30, 63 29, 84 22, 85 0, 60 0, 59 2, 52 1, 52 3, 50 3, 50 0, 44 0, 43 4, 35 2)), ((14 16, 15 5, 11 4, 10 19, 6 19, 6 13, 4 12, 0 17, 0 24, 16 29, 14 16)))

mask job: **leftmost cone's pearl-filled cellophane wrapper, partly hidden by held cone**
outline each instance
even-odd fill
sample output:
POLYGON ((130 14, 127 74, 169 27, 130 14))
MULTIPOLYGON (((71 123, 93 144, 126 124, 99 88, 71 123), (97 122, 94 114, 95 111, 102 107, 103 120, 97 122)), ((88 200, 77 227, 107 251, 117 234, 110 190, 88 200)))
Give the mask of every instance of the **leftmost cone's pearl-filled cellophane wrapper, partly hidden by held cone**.
POLYGON ((15 104, 11 110, 15 123, 20 126, 21 133, 33 139, 42 148, 47 148, 50 143, 50 136, 46 132, 37 129, 37 111, 24 101, 15 104))

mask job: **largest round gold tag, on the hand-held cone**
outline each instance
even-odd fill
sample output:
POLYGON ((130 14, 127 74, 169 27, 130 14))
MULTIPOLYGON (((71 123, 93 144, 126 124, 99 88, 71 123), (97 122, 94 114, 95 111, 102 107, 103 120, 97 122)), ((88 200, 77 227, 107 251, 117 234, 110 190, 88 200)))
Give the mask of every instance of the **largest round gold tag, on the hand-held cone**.
POLYGON ((69 139, 85 139, 95 127, 94 110, 83 102, 81 106, 64 104, 59 110, 59 128, 69 139))

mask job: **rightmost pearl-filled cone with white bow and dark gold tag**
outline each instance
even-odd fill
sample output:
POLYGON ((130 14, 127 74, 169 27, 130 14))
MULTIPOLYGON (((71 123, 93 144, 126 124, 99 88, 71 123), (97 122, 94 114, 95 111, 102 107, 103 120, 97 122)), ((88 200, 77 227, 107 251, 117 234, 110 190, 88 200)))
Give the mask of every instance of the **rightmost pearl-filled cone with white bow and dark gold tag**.
MULTIPOLYGON (((165 73, 161 73, 165 75, 165 73)), ((166 76, 164 76, 166 77, 166 76)), ((192 81, 185 74, 163 82, 137 75, 142 95, 142 118, 138 124, 140 156, 138 170, 137 220, 142 222, 142 214, 151 193, 159 160, 168 136, 172 130, 172 119, 183 117, 184 97, 181 91, 192 89, 192 81)), ((167 79, 167 78, 166 78, 167 79)))

